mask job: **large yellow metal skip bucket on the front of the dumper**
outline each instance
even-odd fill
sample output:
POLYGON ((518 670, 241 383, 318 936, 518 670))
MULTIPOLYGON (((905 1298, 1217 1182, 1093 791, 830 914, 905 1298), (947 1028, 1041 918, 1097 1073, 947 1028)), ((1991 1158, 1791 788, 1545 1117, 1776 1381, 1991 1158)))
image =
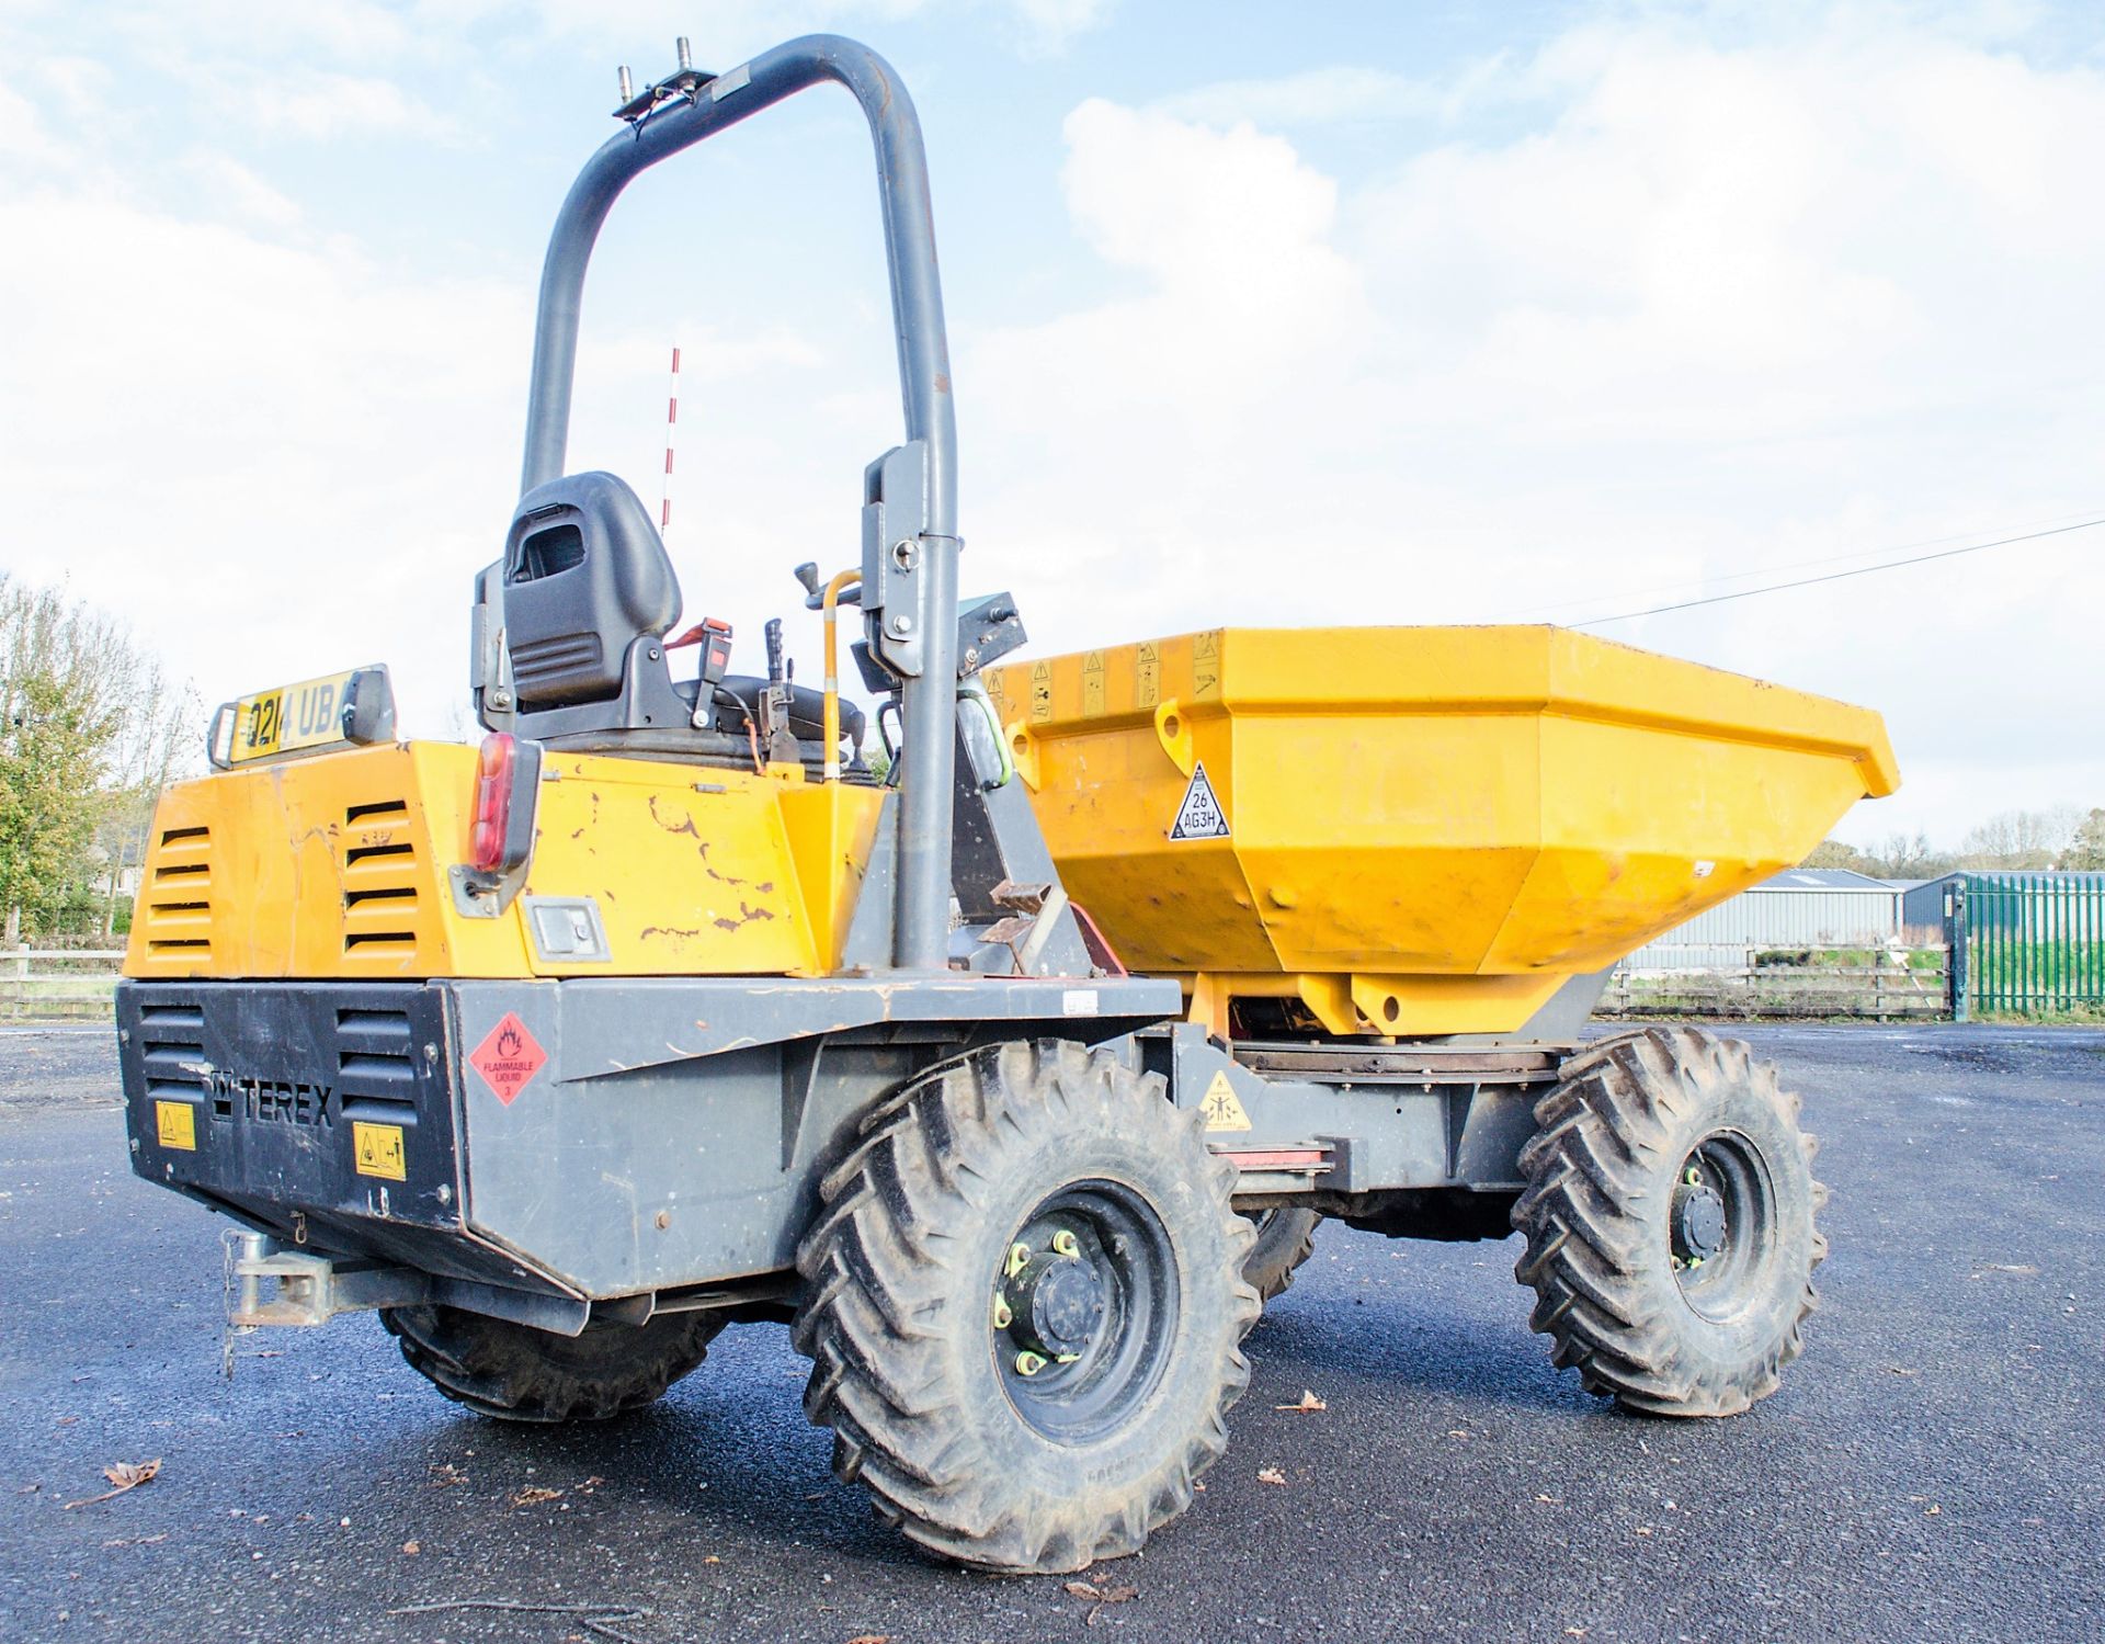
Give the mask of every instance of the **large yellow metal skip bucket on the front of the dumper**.
POLYGON ((1556 627, 1227 627, 987 676, 1132 970, 1507 1034, 1899 785, 1878 714, 1556 627))

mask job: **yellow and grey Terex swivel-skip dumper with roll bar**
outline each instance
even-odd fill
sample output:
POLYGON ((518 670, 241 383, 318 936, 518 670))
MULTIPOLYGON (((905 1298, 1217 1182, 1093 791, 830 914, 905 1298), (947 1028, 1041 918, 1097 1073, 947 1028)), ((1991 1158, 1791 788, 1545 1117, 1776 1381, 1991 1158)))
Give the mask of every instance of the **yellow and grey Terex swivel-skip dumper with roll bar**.
POLYGON ((549 242, 476 747, 381 667, 263 690, 166 794, 118 991, 133 1166, 238 1225, 229 1320, 375 1309, 488 1417, 589 1421, 787 1322, 836 1469, 939 1553, 1181 1513, 1320 1217, 1524 1236, 1558 1362, 1732 1415, 1810 1311, 1798 1103, 1606 968, 1894 787, 1873 714, 1549 627, 1206 629, 1019 659, 960 600, 914 105, 848 40, 627 95, 549 242), (640 171, 821 80, 876 149, 905 434, 798 566, 823 686, 682 627, 564 440, 640 171), (838 688, 834 634, 890 758, 838 688))

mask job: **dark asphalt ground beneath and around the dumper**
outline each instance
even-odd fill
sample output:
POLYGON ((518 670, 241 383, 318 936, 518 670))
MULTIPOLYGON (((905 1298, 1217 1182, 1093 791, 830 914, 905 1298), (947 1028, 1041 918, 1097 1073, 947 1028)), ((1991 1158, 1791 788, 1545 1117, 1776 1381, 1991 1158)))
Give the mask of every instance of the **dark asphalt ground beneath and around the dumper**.
POLYGON ((1198 1507, 1097 1604, 882 1530, 781 1328, 570 1431, 461 1412, 368 1318, 221 1381, 221 1223, 128 1175, 107 1036, 0 1031, 0 1638, 2105 1638, 2105 1034, 1749 1038, 1833 1189, 1781 1394, 1617 1415, 1516 1242, 1324 1227, 1198 1507), (547 1608, 415 1610, 463 1600, 547 1608))

